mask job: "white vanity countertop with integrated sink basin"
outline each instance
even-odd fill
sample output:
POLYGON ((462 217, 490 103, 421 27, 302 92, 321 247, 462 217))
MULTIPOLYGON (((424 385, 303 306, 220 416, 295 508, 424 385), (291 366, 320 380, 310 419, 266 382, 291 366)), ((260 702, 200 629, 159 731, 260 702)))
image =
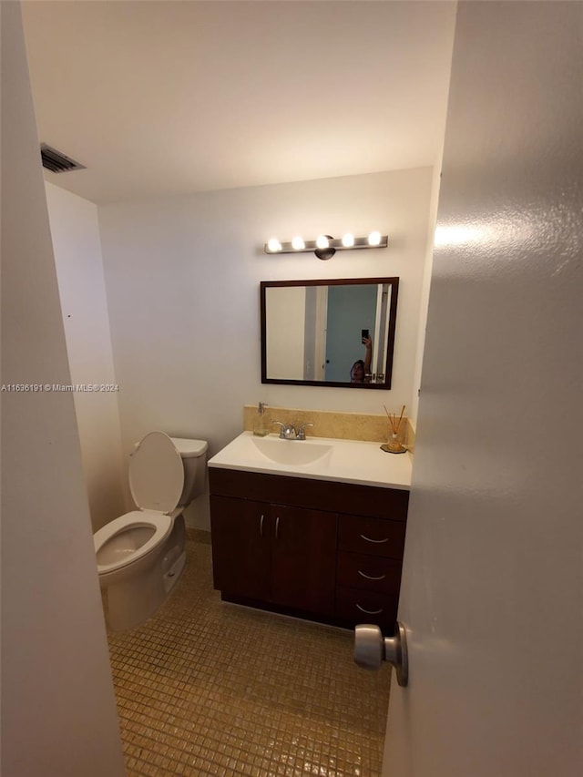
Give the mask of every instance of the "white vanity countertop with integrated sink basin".
POLYGON ((409 453, 385 453, 380 443, 361 440, 337 440, 331 437, 281 440, 277 434, 256 437, 252 432, 242 432, 210 459, 209 466, 408 491, 411 486, 412 456, 409 453), (261 440, 266 443, 261 443, 261 440), (287 447, 291 445, 298 447, 287 447), (261 451, 261 446, 267 454, 261 451), (302 449, 300 446, 303 446, 302 449), (320 457, 307 464, 282 461, 288 455, 290 458, 310 458, 312 452, 320 457), (273 460, 270 454, 281 460, 273 460))

